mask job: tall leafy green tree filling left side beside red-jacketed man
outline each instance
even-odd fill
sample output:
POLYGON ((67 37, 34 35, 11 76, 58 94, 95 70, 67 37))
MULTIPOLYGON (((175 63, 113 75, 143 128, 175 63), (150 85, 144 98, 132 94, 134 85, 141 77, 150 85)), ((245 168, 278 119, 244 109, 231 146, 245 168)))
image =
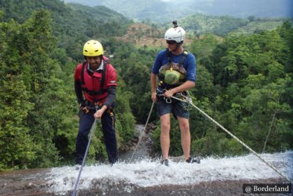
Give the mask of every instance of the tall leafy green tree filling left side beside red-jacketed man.
MULTIPOLYGON (((62 75, 59 74, 59 64, 50 58, 56 49, 50 28, 50 13, 44 10, 33 13, 24 24, 13 21, 1 24, 1 83, 6 87, 1 89, 1 109, 21 114, 20 117, 14 115, 19 120, 15 123, 3 116, 8 118, 3 119, 8 124, 1 124, 1 130, 7 129, 7 133, 16 136, 15 142, 20 144, 1 148, 13 162, 10 166, 31 168, 58 163, 53 138, 61 126, 59 122, 71 112, 66 103, 73 100, 66 96, 64 83, 57 78, 62 75), (19 136, 8 130, 13 126, 19 136), (20 149, 27 151, 27 158, 23 158, 20 149)), ((7 142, 4 138, 8 136, 2 135, 1 138, 7 142)), ((5 158, 3 163, 8 165, 5 158)))

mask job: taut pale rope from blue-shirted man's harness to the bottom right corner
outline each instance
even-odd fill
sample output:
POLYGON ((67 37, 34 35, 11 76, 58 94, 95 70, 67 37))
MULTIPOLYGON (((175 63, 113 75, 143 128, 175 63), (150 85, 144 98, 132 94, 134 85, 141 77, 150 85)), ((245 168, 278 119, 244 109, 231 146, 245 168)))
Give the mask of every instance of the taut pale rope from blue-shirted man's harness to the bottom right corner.
MULTIPOLYGON (((213 120, 212 117, 210 117, 209 115, 207 115, 206 113, 204 113, 204 111, 202 111, 200 108, 198 108, 197 106, 195 106, 195 104, 193 104, 192 101, 190 101, 190 99, 179 99, 177 97, 172 96, 173 99, 177 99, 179 101, 183 101, 186 102, 187 104, 190 104, 191 106, 193 106, 194 108, 197 109, 197 111, 200 111, 200 113, 202 113, 203 115, 205 115, 207 118, 209 118, 209 120, 211 120, 213 123, 215 123, 216 125, 218 125, 220 127, 220 129, 223 129, 223 131, 225 131, 226 133, 228 133, 232 138, 234 138, 236 141, 238 141, 241 145, 243 145, 243 147, 246 147, 246 149, 248 149, 250 152, 252 152, 253 154, 255 154, 255 156, 257 156, 257 158, 260 158, 260 160, 264 163, 266 163, 266 165, 269 166, 269 168, 273 169, 276 173, 278 173, 281 177, 285 178, 287 181, 289 181, 290 183, 292 183, 292 181, 288 178, 285 177, 285 175, 283 175, 282 173, 278 172, 278 170, 271 165, 270 163, 267 163, 261 156, 260 154, 257 154, 257 152, 255 152, 253 149, 251 149, 250 147, 248 147, 248 145, 246 145, 244 142, 242 142, 241 140, 239 140, 239 138, 237 138, 236 136, 234 136, 230 131, 228 131, 227 129, 225 129, 224 126, 220 125, 218 122, 216 122, 216 120, 213 120)), ((187 98, 187 97, 185 97, 187 98)), ((188 97, 190 98, 190 97, 188 97)))

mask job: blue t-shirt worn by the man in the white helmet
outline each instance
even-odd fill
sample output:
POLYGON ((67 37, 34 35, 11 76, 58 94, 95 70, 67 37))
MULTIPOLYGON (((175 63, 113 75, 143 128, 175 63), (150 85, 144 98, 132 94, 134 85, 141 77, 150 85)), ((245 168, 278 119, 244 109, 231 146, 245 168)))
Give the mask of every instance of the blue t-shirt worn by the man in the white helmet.
MULTIPOLYGON (((167 50, 164 49, 163 51, 160 51, 157 56, 155 63, 153 63, 153 67, 151 68, 151 72, 153 74, 158 74, 160 67, 163 65, 166 65, 168 62, 167 58, 167 50)), ((170 53, 170 57, 172 58, 172 61, 174 63, 179 63, 183 54, 179 55, 174 55, 170 53)), ((191 53, 188 53, 186 56, 186 59, 184 60, 183 67, 186 70, 186 80, 188 81, 196 81, 196 61, 195 61, 195 56, 191 53)))

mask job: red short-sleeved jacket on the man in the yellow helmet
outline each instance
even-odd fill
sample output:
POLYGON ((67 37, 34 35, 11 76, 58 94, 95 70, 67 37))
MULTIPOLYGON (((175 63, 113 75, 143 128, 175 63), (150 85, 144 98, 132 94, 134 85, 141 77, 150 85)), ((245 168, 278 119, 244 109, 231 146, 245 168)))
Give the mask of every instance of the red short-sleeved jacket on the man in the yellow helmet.
POLYGON ((85 66, 83 66, 83 63, 81 63, 77 65, 75 69, 74 79, 75 81, 80 82, 80 84, 82 85, 82 90, 84 92, 84 97, 89 101, 99 101, 103 103, 107 97, 107 88, 109 88, 110 86, 117 86, 116 70, 112 65, 110 65, 110 63, 107 63, 107 61, 105 61, 107 60, 107 58, 103 57, 103 60, 105 70, 103 87, 101 87, 103 77, 102 70, 94 73, 89 72, 89 70, 87 70, 88 63, 85 63, 85 66), (82 67, 84 67, 84 83, 82 81, 82 67))

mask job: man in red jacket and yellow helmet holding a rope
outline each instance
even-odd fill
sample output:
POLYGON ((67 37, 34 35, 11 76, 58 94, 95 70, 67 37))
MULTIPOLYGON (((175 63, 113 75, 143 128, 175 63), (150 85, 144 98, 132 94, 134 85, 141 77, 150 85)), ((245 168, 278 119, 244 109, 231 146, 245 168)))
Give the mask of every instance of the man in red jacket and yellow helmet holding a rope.
POLYGON ((116 70, 103 56, 103 46, 96 40, 84 44, 83 54, 86 61, 75 69, 75 94, 79 107, 80 128, 76 140, 75 163, 82 164, 88 135, 95 118, 102 122, 107 156, 111 164, 118 160, 117 141, 114 130, 114 99, 117 87, 116 70))

